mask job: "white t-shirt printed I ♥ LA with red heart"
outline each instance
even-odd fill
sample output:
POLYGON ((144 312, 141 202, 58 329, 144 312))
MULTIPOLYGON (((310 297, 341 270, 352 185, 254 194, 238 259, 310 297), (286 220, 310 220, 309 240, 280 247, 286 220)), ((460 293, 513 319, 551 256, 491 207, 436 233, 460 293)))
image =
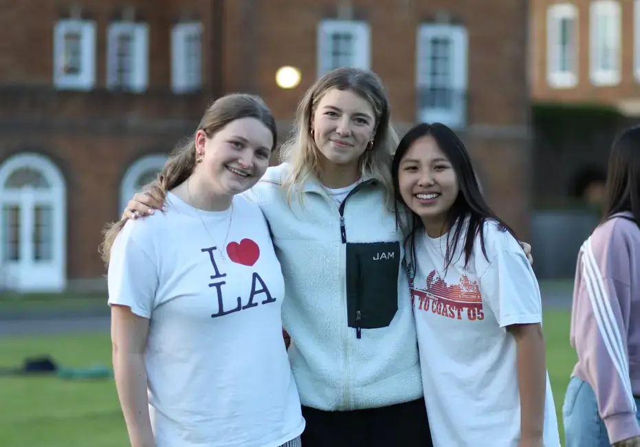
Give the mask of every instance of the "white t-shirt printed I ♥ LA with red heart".
POLYGON ((126 223, 109 303, 151 319, 144 364, 157 447, 275 447, 302 433, 284 294, 265 218, 243 197, 206 212, 169 193, 166 212, 126 223), (216 247, 228 228, 225 261, 216 247))

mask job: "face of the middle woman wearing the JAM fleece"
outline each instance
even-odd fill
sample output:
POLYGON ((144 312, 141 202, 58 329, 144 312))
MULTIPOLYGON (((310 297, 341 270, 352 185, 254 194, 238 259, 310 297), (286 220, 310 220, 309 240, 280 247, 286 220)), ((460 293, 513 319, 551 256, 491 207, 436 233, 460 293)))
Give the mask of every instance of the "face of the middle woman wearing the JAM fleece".
POLYGON ((371 104, 350 90, 330 89, 313 112, 313 140, 333 164, 357 163, 375 136, 371 104))

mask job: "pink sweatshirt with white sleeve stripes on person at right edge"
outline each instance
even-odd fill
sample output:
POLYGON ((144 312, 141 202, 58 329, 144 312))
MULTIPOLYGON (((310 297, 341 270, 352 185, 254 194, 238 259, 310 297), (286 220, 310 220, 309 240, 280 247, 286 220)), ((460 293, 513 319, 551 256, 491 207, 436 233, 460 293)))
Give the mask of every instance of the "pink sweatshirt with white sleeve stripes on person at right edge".
POLYGON ((571 345, 578 355, 573 375, 595 391, 610 443, 639 436, 640 228, 634 221, 614 217, 582 245, 571 345))

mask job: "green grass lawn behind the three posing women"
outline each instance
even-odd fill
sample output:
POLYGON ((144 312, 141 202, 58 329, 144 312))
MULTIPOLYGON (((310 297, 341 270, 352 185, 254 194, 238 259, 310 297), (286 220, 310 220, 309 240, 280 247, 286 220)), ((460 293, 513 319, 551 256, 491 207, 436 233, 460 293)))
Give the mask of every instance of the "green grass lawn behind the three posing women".
MULTIPOLYGON (((564 391, 575 363, 569 346, 569 312, 547 312, 544 318, 547 367, 562 427, 564 391)), ((0 338, 0 367, 44 353, 65 367, 111 364, 108 334, 0 338)), ((0 402, 2 447, 129 445, 112 380, 0 377, 0 402)))

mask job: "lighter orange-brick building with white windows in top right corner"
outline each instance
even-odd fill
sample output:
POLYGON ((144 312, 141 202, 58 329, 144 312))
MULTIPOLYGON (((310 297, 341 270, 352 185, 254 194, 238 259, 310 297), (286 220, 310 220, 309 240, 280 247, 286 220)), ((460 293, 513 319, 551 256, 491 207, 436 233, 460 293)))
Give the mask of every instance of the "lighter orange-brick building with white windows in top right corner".
POLYGON ((640 116, 640 0, 531 1, 535 100, 640 116))

